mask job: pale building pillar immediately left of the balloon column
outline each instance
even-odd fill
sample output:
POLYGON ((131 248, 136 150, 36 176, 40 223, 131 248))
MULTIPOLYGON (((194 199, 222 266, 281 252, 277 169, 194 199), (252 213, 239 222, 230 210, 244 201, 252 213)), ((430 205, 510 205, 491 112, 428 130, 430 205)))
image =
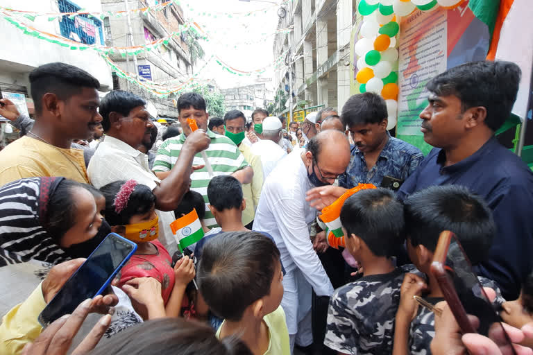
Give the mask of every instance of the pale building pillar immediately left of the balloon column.
POLYGON ((344 63, 350 60, 350 33, 352 31, 352 0, 337 3, 337 105, 339 110, 350 97, 350 67, 344 63))

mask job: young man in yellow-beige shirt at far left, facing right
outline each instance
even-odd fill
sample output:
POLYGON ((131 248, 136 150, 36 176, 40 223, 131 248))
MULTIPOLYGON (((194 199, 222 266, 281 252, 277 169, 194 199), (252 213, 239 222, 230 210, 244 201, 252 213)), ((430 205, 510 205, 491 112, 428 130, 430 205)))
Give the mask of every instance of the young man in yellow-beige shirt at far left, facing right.
MULTIPOLYGON (((0 152, 0 186, 33 176, 63 176, 89 183, 83 150, 70 148, 73 139, 87 139, 102 121, 96 110, 100 83, 86 71, 55 62, 29 76, 37 119, 28 135, 0 152)), ((0 114, 10 120, 17 107, 0 99, 0 114)))

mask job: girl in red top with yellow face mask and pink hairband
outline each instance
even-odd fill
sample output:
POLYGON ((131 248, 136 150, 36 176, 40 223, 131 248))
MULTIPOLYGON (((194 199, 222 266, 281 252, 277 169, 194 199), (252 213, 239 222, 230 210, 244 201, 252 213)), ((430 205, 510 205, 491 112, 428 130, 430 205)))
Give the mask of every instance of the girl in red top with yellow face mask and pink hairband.
POLYGON ((112 231, 137 243, 137 252, 120 271, 119 285, 135 286, 133 279, 141 277, 152 277, 160 283, 161 299, 154 297, 150 305, 134 302, 135 311, 144 320, 180 316, 185 288, 195 275, 194 263, 183 257, 172 268, 169 252, 158 241, 155 195, 135 180, 112 182, 100 191, 105 196, 105 220, 112 231))

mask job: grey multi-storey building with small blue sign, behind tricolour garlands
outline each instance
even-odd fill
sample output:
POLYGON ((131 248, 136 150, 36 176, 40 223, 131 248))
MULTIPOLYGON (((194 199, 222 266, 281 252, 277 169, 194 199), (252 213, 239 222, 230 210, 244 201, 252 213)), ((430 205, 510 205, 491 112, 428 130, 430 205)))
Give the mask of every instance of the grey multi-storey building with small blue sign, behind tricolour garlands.
MULTIPOLYGON (((156 0, 126 0, 130 9, 145 8, 160 3, 168 3, 158 11, 130 12, 131 33, 128 28, 127 17, 105 17, 103 28, 106 44, 108 46, 130 46, 130 36, 133 43, 138 46, 167 37, 171 33, 180 31, 180 26, 185 24, 183 10, 173 1, 156 0)), ((125 0, 101 0, 104 11, 125 10, 125 0)), ((112 55, 112 60, 117 62, 122 70, 138 74, 142 78, 158 83, 180 84, 192 75, 191 56, 187 46, 187 35, 172 37, 167 45, 160 46, 155 51, 146 51, 137 55, 137 68, 130 56, 128 60, 121 55, 112 55)), ((171 98, 153 98, 143 89, 128 83, 123 78, 114 76, 115 89, 130 90, 143 96, 155 104, 159 116, 177 117, 178 111, 171 98)))

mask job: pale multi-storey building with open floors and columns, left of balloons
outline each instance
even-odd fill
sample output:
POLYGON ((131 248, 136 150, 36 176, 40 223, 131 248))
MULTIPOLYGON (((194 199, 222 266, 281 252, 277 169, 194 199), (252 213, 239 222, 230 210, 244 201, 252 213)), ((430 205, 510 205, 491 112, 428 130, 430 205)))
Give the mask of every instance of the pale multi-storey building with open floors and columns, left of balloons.
POLYGON ((294 0, 280 8, 278 28, 294 27, 290 33, 278 33, 274 40, 275 56, 285 54, 285 66, 276 70, 274 78, 276 92, 289 92, 292 81, 293 105, 305 100, 307 106, 340 110, 350 96, 355 7, 356 0, 294 0))

